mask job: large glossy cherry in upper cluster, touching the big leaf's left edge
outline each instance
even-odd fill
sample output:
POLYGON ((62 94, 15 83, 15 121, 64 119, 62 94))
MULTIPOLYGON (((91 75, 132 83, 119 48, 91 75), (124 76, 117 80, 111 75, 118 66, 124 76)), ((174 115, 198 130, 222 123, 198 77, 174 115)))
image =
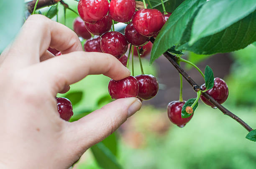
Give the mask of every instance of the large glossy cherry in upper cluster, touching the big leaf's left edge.
POLYGON ((156 9, 141 9, 133 15, 133 26, 143 36, 156 35, 164 25, 163 14, 156 9))

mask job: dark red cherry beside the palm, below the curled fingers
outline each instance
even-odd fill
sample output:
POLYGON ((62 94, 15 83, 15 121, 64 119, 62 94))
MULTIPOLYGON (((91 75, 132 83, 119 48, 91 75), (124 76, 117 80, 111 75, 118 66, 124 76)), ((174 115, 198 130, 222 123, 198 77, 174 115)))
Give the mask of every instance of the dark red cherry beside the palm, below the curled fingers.
POLYGON ((64 97, 57 97, 56 100, 61 119, 69 121, 74 114, 71 102, 64 97))

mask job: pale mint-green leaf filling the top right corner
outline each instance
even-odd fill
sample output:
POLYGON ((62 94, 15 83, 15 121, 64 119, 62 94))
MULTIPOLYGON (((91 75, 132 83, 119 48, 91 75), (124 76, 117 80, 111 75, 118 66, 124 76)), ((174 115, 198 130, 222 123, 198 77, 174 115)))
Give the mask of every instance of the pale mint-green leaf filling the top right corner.
POLYGON ((246 0, 246 2, 243 0, 210 0, 206 2, 195 17, 189 45, 202 37, 224 30, 255 9, 255 0, 246 0))

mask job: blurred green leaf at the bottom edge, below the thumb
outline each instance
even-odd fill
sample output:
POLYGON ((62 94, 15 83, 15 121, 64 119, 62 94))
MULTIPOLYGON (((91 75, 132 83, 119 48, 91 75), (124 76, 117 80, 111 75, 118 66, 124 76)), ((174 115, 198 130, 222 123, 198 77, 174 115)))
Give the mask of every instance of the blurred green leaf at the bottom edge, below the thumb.
POLYGON ((92 146, 91 150, 98 165, 103 169, 122 169, 116 157, 102 142, 92 146))

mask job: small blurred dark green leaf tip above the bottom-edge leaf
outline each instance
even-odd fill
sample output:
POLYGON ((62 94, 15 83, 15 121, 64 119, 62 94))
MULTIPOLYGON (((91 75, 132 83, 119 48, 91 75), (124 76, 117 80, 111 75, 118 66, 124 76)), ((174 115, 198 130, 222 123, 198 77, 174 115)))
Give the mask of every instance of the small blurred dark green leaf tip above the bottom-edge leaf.
POLYGON ((118 153, 118 137, 116 132, 105 138, 102 143, 115 155, 118 153))

